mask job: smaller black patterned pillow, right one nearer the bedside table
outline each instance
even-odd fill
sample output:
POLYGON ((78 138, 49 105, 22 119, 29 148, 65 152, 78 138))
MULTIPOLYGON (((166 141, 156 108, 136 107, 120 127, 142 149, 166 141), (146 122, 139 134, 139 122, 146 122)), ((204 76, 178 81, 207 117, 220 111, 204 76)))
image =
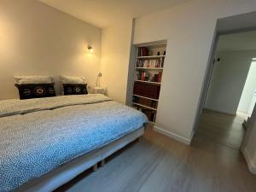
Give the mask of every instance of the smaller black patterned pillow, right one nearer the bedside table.
POLYGON ((88 94, 87 84, 62 84, 64 96, 88 94))

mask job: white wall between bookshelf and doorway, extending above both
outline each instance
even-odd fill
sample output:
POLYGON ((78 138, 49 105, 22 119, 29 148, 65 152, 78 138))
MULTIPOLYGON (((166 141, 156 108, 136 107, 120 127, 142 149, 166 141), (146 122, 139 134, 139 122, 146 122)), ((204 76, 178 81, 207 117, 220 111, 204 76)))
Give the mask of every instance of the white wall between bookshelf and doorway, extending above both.
POLYGON ((253 0, 194 0, 136 20, 134 43, 167 39, 156 123, 189 142, 216 21, 256 10, 253 0))

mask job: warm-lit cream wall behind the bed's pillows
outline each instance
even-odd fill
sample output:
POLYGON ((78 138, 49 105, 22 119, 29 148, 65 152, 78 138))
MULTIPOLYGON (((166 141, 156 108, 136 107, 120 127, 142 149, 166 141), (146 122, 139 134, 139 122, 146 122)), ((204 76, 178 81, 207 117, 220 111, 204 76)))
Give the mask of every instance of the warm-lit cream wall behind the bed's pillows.
POLYGON ((18 96, 14 75, 79 75, 94 86, 100 55, 101 29, 38 1, 0 1, 0 99, 18 96))

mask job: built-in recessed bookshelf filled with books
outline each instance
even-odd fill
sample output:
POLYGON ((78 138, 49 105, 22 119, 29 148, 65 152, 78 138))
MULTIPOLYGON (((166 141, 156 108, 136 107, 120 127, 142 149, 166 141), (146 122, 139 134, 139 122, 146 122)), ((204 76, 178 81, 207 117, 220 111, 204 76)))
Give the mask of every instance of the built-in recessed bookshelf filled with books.
POLYGON ((162 73, 166 57, 166 42, 136 45, 131 106, 155 122, 162 73))

